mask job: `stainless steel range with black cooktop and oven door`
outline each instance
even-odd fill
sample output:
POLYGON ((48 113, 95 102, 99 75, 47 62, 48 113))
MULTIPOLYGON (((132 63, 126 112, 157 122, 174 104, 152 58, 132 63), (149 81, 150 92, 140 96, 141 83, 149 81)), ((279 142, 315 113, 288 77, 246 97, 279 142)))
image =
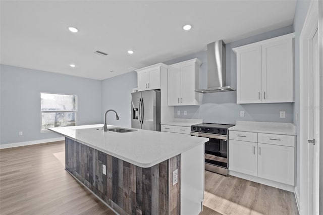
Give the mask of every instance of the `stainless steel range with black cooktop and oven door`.
POLYGON ((191 126, 191 135, 209 138, 205 142, 205 170, 227 176, 228 128, 234 125, 201 123, 191 126))

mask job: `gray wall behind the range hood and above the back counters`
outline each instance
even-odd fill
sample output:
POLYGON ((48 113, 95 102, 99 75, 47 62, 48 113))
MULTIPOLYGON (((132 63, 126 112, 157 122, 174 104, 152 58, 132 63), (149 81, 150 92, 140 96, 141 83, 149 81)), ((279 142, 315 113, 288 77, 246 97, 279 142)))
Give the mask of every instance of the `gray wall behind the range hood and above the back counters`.
MULTIPOLYGON (((227 85, 237 86, 236 55, 232 48, 249 43, 269 39, 284 34, 292 33, 292 26, 266 32, 256 36, 226 44, 227 58, 227 85)), ((193 55, 178 58, 165 64, 174 64, 181 61, 198 58, 202 61, 201 66, 201 88, 206 88, 207 83, 207 56, 206 51, 194 53, 193 55)), ((176 118, 203 119, 209 123, 235 124, 241 121, 263 121, 263 122, 293 122, 293 103, 271 103, 271 104, 237 104, 237 92, 221 92, 201 94, 200 106, 177 106, 175 107, 176 118), (180 115, 177 112, 180 111, 180 115), (184 116, 187 111, 187 116, 184 116), (245 112, 245 117, 240 117, 240 111, 245 112), (286 111, 286 118, 279 118, 279 112, 286 111)))

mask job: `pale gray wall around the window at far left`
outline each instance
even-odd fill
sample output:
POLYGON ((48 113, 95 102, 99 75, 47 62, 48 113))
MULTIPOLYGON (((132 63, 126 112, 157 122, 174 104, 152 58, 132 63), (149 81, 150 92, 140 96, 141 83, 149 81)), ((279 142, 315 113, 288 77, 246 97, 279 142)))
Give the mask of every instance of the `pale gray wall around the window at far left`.
POLYGON ((101 123, 101 81, 7 65, 0 71, 1 144, 61 137, 40 133, 40 92, 76 94, 78 125, 101 123))

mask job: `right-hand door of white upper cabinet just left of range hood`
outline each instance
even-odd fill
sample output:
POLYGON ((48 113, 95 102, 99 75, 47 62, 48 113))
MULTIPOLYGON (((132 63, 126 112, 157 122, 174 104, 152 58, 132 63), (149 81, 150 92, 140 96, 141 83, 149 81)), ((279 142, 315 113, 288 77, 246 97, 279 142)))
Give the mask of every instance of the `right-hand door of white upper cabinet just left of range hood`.
POLYGON ((195 99, 195 64, 181 64, 181 96, 180 105, 194 105, 195 99))

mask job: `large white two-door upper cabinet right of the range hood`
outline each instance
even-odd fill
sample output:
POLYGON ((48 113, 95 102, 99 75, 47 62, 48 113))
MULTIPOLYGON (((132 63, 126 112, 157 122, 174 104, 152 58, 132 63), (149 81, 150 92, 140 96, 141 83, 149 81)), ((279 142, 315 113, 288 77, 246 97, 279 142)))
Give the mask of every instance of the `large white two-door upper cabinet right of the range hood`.
POLYGON ((294 33, 233 48, 237 103, 294 102, 294 33))

